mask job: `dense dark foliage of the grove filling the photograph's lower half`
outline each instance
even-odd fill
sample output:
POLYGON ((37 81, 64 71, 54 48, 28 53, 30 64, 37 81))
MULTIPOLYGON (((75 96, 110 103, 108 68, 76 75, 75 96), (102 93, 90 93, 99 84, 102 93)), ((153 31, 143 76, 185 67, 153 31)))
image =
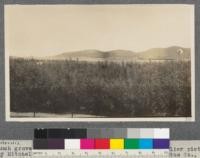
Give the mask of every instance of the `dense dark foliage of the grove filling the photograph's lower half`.
POLYGON ((11 111, 191 116, 190 61, 10 59, 11 111))

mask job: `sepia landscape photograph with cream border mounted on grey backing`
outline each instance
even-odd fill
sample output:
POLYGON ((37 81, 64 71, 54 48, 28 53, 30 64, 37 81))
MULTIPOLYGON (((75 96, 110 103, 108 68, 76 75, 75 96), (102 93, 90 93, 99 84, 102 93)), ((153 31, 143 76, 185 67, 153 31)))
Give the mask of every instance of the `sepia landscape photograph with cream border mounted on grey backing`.
POLYGON ((194 5, 5 5, 7 121, 194 121, 194 5))

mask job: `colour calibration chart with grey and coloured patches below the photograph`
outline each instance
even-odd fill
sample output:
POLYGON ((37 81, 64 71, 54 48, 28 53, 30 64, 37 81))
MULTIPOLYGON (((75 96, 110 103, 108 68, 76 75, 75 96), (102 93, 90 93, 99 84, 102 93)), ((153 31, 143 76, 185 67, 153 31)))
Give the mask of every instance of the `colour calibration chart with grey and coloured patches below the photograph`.
POLYGON ((169 156, 168 128, 35 129, 33 157, 169 156))

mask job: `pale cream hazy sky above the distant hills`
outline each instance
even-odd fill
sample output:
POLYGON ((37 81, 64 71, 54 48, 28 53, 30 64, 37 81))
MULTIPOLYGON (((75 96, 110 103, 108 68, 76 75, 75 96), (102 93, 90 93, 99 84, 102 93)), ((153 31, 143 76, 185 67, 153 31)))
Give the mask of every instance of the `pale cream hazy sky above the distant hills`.
POLYGON ((193 5, 7 5, 5 51, 50 56, 83 49, 191 47, 193 12, 193 5))

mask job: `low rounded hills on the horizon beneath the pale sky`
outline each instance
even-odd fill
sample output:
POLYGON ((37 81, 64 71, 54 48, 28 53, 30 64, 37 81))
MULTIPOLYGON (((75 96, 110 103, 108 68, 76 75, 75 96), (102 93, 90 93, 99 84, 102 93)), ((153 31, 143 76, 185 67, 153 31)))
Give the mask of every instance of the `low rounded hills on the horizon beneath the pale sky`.
POLYGON ((40 58, 46 60, 79 60, 79 61, 136 61, 136 60, 190 60, 190 48, 172 46, 168 48, 152 48, 143 52, 130 50, 100 51, 95 49, 66 52, 55 56, 40 58))

